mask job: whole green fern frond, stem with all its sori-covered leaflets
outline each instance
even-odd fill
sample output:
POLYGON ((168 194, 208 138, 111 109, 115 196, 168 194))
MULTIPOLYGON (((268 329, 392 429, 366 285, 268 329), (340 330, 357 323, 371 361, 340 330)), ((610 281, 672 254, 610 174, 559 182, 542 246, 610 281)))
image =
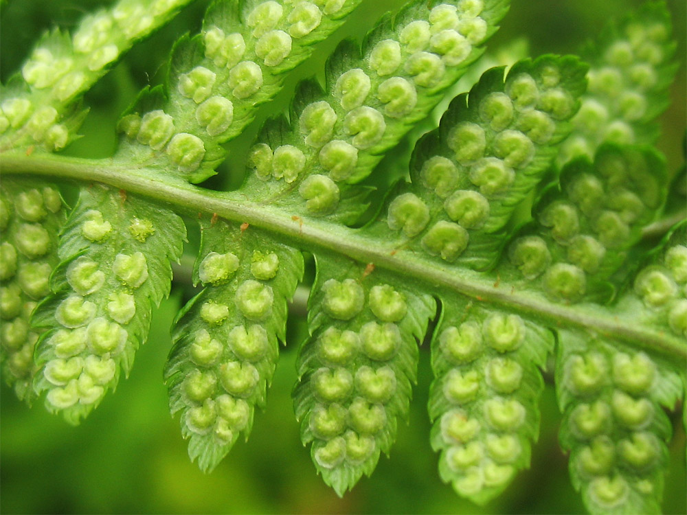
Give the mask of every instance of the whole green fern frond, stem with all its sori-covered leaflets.
MULTIPOLYGON (((73 37, 46 34, 2 87, 10 173, 17 156, 45 159, 72 141, 82 93, 185 3, 122 0, 73 37)), ((167 86, 144 90, 117 127, 113 184, 205 213, 194 266, 203 289, 174 322, 165 368, 190 458, 210 472, 248 437, 306 250, 317 276, 293 398, 302 442, 337 494, 390 452, 438 300, 429 415, 444 482, 482 504, 529 465, 540 369, 557 341, 561 445, 587 509, 659 512, 663 409, 684 396, 685 370, 653 340, 630 344, 646 336, 684 354, 687 337, 686 225, 649 253, 640 241, 667 193, 664 158, 649 146, 676 69, 664 2, 589 45, 588 73, 552 55, 484 73, 420 139, 411 182, 361 229, 346 227, 368 208, 372 188, 359 183, 469 71, 508 1, 408 3, 361 47, 339 45, 325 87, 297 87, 289 121, 262 128, 238 192, 188 185, 214 174, 220 145, 358 3, 212 3, 201 34, 174 46, 167 86)), ((177 208, 86 180, 66 224, 55 185, 17 176, 0 187, 1 371, 20 398, 45 393, 71 423, 128 374, 185 240, 177 208)))

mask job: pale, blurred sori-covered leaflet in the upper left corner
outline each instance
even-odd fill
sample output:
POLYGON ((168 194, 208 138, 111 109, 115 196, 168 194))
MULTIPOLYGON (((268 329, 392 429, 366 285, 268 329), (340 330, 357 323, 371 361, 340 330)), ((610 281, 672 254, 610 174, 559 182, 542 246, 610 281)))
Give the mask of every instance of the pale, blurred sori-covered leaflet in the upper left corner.
POLYGON ((16 144, 19 137, 49 151, 65 148, 81 119, 71 113, 69 104, 133 41, 155 30, 185 3, 188 0, 121 0, 109 10, 85 16, 71 38, 60 32, 45 36, 21 69, 25 87, 10 83, 3 95, 2 146, 16 144))

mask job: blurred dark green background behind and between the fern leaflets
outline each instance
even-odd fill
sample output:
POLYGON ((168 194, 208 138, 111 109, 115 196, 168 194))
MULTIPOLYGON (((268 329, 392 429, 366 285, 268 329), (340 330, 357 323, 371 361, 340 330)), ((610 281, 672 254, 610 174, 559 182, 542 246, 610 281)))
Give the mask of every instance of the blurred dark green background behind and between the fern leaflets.
MULTIPOLYGON (((0 11, 0 78, 5 82, 21 65, 38 36, 58 24, 73 27, 98 5, 93 0, 10 0, 0 11)), ((332 41, 319 45, 315 58, 289 77, 276 106, 285 107, 297 80, 322 77, 324 59, 337 41, 360 37, 385 10, 399 0, 368 1, 332 41)), ((510 14, 490 47, 500 58, 521 52, 513 46, 527 37, 530 55, 575 52, 586 38, 598 34, 611 16, 639 1, 630 0, 512 0, 510 14), (554 5, 554 6, 553 6, 554 5)), ((669 1, 678 41, 677 80, 671 89, 672 106, 662 117, 660 149, 668 170, 684 163, 686 126, 685 19, 682 0, 669 1)), ((175 38, 199 30, 207 1, 183 10, 168 27, 132 50, 87 95, 91 107, 81 133, 84 137, 66 150, 70 155, 106 157, 115 146, 117 115, 131 104, 146 84, 159 84, 166 73, 166 55, 175 38)), ((497 59, 499 57, 497 56, 497 59)), ((455 93, 469 88, 462 81, 455 93)), ((256 123, 229 144, 231 158, 221 167, 213 187, 240 183, 245 146, 275 104, 260 110, 256 123)), ((405 141, 405 150, 412 141, 405 141)), ((403 149, 400 149, 403 150, 403 149)), ((398 152, 401 154, 403 152, 398 152)), ((405 152, 407 154, 407 152, 405 152)), ((400 163, 403 165, 403 162, 400 163)), ((398 162, 396 163, 398 165, 398 162)), ((403 166, 398 167, 399 173, 403 166)), ((388 173, 386 180, 390 180, 388 173)), ((66 190, 69 198, 69 190, 66 190)), ((192 225, 190 225, 190 228, 192 225)), ((185 260, 192 260, 194 233, 185 260)), ((80 426, 73 428, 49 415, 38 402, 32 409, 20 404, 7 387, 0 391, 0 512, 2 513, 581 513, 583 506, 567 475, 567 459, 556 435, 558 409, 550 375, 541 401, 541 435, 534 446, 532 466, 517 477, 497 500, 485 507, 462 501, 441 483, 437 457, 429 446, 427 390, 431 381, 428 346, 420 352, 418 387, 409 424, 401 424, 389 459, 383 457, 371 478, 362 479, 339 499, 317 477, 309 452, 300 444, 293 417, 291 387, 295 382, 295 351, 304 339, 302 317, 291 317, 287 345, 282 350, 267 409, 258 412, 249 442, 238 442, 212 474, 201 474, 186 455, 177 420, 167 408, 162 367, 170 348, 169 328, 181 302, 192 295, 188 267, 177 268, 172 297, 155 310, 148 343, 139 350, 128 380, 80 426)), ((297 311, 297 308, 296 308, 297 311)), ((675 434, 664 494, 664 512, 684 514, 686 471, 685 433, 673 413, 675 434)))

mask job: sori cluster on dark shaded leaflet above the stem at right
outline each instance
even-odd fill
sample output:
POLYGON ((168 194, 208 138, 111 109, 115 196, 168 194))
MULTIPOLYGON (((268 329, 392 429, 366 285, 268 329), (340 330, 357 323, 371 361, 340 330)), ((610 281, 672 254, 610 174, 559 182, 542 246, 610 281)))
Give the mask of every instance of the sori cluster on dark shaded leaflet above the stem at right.
POLYGON ((528 281, 538 279, 554 299, 575 302, 592 293, 624 261, 624 251, 660 207, 663 165, 652 152, 601 148, 594 164, 564 169, 560 192, 541 199, 536 233, 508 251, 528 281))

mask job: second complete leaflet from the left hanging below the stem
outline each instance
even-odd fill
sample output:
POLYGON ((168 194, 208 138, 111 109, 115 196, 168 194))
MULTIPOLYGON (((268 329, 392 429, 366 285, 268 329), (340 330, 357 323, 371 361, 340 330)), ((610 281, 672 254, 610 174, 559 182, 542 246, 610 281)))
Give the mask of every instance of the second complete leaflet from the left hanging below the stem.
POLYGON ((216 218, 200 226, 194 282, 205 288, 174 323, 165 380, 188 454, 210 472, 264 407, 303 260, 250 227, 216 218))

